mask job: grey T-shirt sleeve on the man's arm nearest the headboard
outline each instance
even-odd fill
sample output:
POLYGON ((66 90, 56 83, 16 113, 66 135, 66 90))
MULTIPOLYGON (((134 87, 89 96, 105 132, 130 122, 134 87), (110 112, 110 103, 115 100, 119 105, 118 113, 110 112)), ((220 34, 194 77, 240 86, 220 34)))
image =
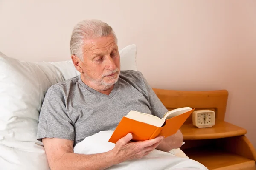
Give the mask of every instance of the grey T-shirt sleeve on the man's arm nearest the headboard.
POLYGON ((166 112, 168 112, 168 110, 163 105, 161 100, 157 97, 157 95, 155 94, 155 92, 153 91, 153 89, 151 88, 151 86, 149 85, 149 83, 147 82, 144 76, 143 76, 143 81, 148 92, 148 99, 151 106, 151 113, 152 115, 162 119, 163 115, 166 112))

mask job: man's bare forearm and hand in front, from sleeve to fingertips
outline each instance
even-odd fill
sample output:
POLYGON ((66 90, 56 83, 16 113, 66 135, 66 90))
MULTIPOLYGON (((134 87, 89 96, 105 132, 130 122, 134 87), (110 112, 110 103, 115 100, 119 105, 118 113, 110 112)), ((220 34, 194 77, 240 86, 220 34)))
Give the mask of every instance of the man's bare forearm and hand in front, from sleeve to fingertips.
POLYGON ((131 139, 128 133, 112 150, 91 155, 74 153, 71 140, 43 138, 42 141, 51 170, 103 170, 126 160, 140 159, 163 141, 162 136, 142 142, 129 142, 131 139))

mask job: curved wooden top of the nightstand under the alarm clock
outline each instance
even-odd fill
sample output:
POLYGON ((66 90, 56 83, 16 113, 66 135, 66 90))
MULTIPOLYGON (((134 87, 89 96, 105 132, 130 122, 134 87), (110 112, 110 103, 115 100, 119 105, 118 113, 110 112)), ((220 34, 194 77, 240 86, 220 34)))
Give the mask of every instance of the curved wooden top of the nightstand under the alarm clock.
POLYGON ((184 140, 216 139, 231 136, 240 136, 247 133, 247 130, 239 126, 216 120, 214 126, 209 128, 198 128, 192 124, 183 125, 180 128, 184 140))

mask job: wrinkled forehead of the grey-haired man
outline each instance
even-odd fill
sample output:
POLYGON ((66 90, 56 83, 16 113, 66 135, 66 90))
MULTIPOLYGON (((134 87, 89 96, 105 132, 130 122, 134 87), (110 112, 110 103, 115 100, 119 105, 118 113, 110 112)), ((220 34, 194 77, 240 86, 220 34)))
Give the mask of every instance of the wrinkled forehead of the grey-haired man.
POLYGON ((84 40, 85 53, 105 53, 115 48, 117 48, 117 45, 112 35, 84 40))

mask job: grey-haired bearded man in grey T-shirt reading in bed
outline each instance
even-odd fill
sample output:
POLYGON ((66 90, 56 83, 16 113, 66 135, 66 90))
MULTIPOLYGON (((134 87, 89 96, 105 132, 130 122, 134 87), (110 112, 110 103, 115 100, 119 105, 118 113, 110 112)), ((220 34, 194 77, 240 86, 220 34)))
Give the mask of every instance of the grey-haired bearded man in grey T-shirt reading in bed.
POLYGON ((180 131, 164 139, 129 142, 120 139, 112 150, 84 155, 73 147, 100 131, 114 130, 131 110, 162 117, 167 109, 138 71, 120 71, 117 38, 100 20, 84 20, 73 29, 71 58, 81 75, 53 85, 40 112, 38 140, 42 140, 51 169, 101 170, 152 150, 169 151, 182 145, 180 131))

